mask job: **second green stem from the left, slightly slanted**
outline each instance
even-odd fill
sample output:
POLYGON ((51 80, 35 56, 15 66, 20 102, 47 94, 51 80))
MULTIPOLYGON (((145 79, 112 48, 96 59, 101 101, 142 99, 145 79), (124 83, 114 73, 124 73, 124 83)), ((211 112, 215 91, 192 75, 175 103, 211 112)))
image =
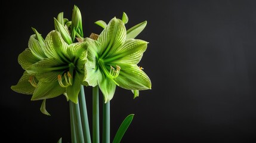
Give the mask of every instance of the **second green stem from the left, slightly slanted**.
POLYGON ((80 99, 79 104, 81 107, 82 129, 84 132, 84 141, 87 143, 91 143, 91 135, 90 135, 87 107, 86 107, 86 101, 85 101, 85 92, 84 92, 83 85, 81 85, 81 91, 79 92, 79 99, 80 99))

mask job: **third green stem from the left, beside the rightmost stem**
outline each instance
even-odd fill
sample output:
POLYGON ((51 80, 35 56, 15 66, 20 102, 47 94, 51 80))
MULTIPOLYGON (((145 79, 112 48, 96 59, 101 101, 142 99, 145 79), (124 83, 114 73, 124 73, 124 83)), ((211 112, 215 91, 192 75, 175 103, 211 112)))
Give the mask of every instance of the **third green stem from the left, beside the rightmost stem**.
POLYGON ((98 113, 98 85, 92 88, 92 142, 100 142, 100 122, 98 113))

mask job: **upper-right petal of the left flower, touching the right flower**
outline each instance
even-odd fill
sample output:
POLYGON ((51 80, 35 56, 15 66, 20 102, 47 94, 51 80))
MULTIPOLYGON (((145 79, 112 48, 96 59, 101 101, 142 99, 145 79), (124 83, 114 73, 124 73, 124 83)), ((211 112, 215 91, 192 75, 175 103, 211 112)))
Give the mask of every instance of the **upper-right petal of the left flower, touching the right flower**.
POLYGON ((74 61, 79 70, 84 68, 87 59, 87 42, 72 43, 67 48, 67 54, 74 61))

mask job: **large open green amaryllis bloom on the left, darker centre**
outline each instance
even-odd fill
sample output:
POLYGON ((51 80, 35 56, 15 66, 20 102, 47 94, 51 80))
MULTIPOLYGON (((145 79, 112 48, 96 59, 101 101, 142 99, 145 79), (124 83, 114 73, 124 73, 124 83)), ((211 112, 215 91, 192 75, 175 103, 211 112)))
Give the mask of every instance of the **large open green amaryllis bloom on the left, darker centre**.
MULTIPOLYGON (((32 100, 45 100, 66 94, 71 101, 77 103, 80 85, 87 85, 83 82, 86 75, 87 43, 68 45, 60 33, 53 30, 42 46, 41 51, 36 51, 36 54, 25 50, 18 60, 35 88, 32 100), (35 58, 39 60, 36 61, 35 58)), ((15 89, 14 91, 18 91, 15 89)))

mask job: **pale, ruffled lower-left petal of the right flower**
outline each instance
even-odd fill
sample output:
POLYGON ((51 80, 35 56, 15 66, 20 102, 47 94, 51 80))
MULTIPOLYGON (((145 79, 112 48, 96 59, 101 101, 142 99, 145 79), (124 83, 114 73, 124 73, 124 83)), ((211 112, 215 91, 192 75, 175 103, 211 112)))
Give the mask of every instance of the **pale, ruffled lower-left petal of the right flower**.
POLYGON ((98 67, 92 68, 90 66, 90 61, 85 64, 87 76, 85 77, 84 81, 86 81, 90 86, 98 85, 98 79, 101 78, 101 71, 98 67))

